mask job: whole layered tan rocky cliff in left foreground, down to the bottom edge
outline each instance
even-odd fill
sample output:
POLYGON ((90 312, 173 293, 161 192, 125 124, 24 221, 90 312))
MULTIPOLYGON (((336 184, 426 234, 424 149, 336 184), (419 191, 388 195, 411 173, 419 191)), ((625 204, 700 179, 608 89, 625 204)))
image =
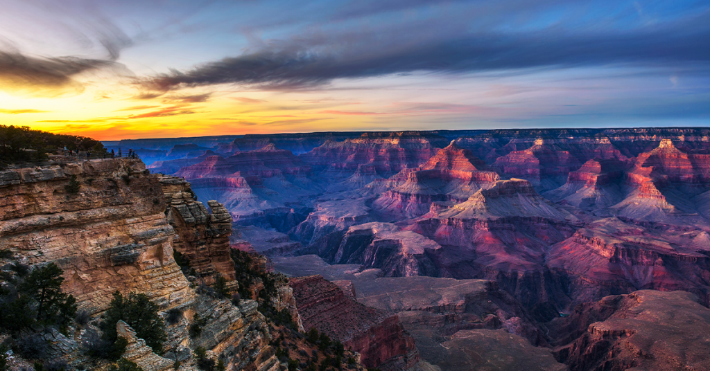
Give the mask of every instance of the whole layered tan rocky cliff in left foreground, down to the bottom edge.
MULTIPOLYGON (((273 281, 275 286, 266 287, 268 272, 242 272, 246 279, 236 280, 229 215, 213 201, 210 213, 193 194, 189 183, 150 175, 138 160, 49 163, 0 172, 3 282, 53 262, 63 271, 62 291, 76 299, 85 316, 62 331, 2 334, 18 349, 23 337, 39 331, 38 341, 48 349, 43 355, 12 355, 11 369, 31 367, 29 358, 49 365, 45 357, 51 357, 65 369, 108 370, 111 362, 88 355, 84 347, 114 292, 146 294, 165 319, 168 336, 160 354, 136 338, 137 329, 116 323, 118 336, 127 342, 122 358, 145 371, 202 370, 209 359, 213 367, 255 371, 334 363, 324 353, 330 348, 309 343, 297 331, 288 285, 273 281), (224 284, 222 292, 212 289, 219 288, 216 282, 224 284), (252 289, 254 298, 224 296, 254 282, 264 283, 252 289), (278 317, 281 310, 293 315, 278 317)), ((358 355, 347 350, 339 355, 345 358, 342 367, 362 368, 358 355)))

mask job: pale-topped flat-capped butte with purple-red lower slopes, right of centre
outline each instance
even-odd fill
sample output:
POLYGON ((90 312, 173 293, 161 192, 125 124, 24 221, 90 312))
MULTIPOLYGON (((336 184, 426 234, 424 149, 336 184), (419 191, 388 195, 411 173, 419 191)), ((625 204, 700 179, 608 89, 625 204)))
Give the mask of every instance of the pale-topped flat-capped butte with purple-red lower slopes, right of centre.
MULTIPOLYGON (((568 238, 579 219, 557 209, 522 179, 501 180, 461 204, 408 227, 439 245, 440 275, 493 279, 523 304, 550 316, 561 287, 545 277, 550 245, 568 238)), ((549 317, 548 317, 549 318, 549 317)))

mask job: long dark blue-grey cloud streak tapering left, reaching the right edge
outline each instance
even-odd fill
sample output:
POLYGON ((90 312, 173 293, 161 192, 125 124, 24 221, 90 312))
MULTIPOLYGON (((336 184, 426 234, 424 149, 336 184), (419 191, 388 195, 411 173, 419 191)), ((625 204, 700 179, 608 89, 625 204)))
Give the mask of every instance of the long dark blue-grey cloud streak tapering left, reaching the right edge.
POLYGON ((212 84, 308 89, 337 78, 425 72, 484 72, 628 64, 687 67, 710 62, 710 13, 657 26, 603 31, 551 26, 539 31, 471 33, 461 24, 417 30, 313 33, 259 50, 147 79, 153 92, 212 84), (441 30, 437 33, 436 30, 441 30), (457 36, 452 36, 457 35, 457 36))

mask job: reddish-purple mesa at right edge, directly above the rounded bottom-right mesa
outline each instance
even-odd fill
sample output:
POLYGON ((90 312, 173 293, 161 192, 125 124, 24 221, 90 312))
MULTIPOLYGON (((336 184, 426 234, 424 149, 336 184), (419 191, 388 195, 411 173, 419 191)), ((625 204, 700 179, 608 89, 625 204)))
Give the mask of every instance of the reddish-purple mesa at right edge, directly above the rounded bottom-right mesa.
POLYGON ((683 235, 601 219, 553 245, 547 267, 569 280, 572 306, 637 289, 682 289, 710 304, 707 246, 683 235))

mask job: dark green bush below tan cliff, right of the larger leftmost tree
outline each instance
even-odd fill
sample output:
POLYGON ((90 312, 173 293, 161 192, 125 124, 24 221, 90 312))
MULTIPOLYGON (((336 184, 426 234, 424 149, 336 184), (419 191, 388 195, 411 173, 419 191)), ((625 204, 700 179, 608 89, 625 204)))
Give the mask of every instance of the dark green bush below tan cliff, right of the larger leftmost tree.
POLYGON ((148 299, 146 294, 131 292, 124 298, 119 292, 114 292, 111 306, 99 325, 105 340, 115 343, 119 338, 116 333, 116 323, 119 320, 131 326, 138 338, 146 340, 146 345, 153 348, 153 352, 163 353, 163 342, 167 339, 165 323, 158 315, 158 306, 148 299))

